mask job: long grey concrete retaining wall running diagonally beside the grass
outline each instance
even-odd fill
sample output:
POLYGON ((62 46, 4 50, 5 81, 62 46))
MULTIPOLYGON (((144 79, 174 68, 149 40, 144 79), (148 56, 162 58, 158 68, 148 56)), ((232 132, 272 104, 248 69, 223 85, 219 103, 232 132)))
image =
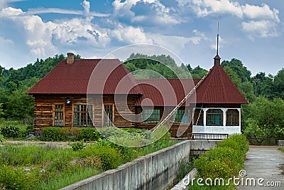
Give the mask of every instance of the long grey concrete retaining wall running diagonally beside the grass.
POLYGON ((121 165, 118 169, 104 171, 89 177, 67 189, 167 189, 173 184, 178 162, 190 158, 190 141, 186 140, 158 152, 147 154, 121 165))

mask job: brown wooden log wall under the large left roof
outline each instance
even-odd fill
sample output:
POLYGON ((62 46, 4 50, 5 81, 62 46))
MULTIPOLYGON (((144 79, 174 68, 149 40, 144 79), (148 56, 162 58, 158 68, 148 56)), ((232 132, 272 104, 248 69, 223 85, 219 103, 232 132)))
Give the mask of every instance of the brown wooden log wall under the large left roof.
MULTIPOLYGON (((118 100, 125 99, 125 97, 117 96, 118 100)), ((127 102, 121 102, 119 104, 128 105, 127 110, 121 112, 122 115, 127 117, 135 113, 135 101, 136 95, 128 95, 126 98, 127 102)), ((102 113, 103 105, 113 105, 114 107, 114 125, 116 127, 134 127, 133 122, 129 122, 119 114, 114 105, 114 95, 104 95, 103 100, 101 97, 88 97, 88 103, 92 103, 94 107, 94 120, 93 123, 96 127, 102 127, 102 113)), ((34 109, 34 126, 38 130, 43 127, 50 127, 54 125, 54 105, 62 104, 64 109, 64 127, 73 127, 74 120, 74 105, 79 103, 87 103, 86 95, 35 95, 35 109, 34 109), (71 104, 67 104, 66 100, 71 100, 71 104)))

